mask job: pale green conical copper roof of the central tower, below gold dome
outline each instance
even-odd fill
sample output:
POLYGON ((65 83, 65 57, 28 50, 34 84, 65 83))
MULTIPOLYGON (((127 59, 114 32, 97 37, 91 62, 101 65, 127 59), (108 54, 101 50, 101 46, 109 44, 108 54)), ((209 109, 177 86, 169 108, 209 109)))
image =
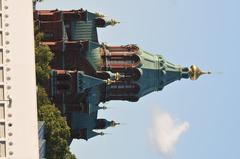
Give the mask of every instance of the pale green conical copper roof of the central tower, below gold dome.
POLYGON ((188 78, 188 69, 166 61, 161 55, 140 50, 139 56, 139 68, 142 70, 142 76, 136 81, 140 86, 139 97, 162 90, 164 86, 181 78, 188 78))

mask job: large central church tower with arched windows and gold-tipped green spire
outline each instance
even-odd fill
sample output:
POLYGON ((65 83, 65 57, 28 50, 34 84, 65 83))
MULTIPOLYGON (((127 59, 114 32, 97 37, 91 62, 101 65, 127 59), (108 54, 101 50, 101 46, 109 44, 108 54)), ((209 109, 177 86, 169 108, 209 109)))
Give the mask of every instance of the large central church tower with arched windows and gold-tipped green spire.
MULTIPOLYGON (((190 78, 196 80, 205 74, 198 67, 190 68, 174 65, 161 55, 143 51, 136 45, 107 46, 100 49, 99 72, 108 73, 105 101, 138 101, 164 86, 190 78), (114 78, 111 75, 114 74, 114 78)), ((206 72, 209 73, 209 72, 206 72)))

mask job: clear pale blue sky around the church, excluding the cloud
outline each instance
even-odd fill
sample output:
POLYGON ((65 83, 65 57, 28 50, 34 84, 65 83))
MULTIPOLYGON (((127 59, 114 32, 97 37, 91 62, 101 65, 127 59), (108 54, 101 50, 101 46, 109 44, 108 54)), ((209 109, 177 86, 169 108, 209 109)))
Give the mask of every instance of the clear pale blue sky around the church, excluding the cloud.
POLYGON ((101 42, 137 44, 172 63, 213 71, 197 81, 172 83, 137 103, 109 102, 111 109, 99 117, 125 124, 103 137, 75 140, 71 150, 79 159, 164 159, 149 141, 153 107, 190 124, 173 159, 240 158, 240 1, 45 0, 38 7, 103 13, 121 23, 99 29, 101 42))

